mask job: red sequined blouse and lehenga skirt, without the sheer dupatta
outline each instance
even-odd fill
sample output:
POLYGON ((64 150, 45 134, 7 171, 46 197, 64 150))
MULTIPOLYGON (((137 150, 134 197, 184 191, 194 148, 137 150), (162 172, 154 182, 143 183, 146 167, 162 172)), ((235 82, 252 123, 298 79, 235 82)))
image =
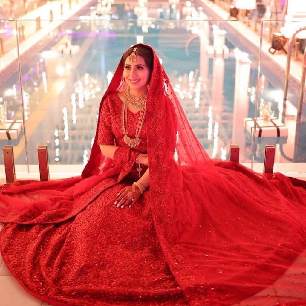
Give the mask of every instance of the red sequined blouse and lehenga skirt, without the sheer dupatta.
MULTIPOLYGON (((113 205, 118 192, 138 179, 133 158, 147 151, 145 125, 137 150, 124 144, 120 103, 116 94, 106 99, 98 139, 100 144, 120 146, 115 166, 131 167, 129 175, 103 192, 111 179, 94 186, 83 200, 95 200, 68 221, 7 224, 1 232, 3 258, 16 278, 42 300, 77 306, 188 306, 157 239, 149 191, 132 209, 113 205)), ((135 133, 138 114, 128 116, 129 131, 135 133)), ((143 172, 146 169, 143 166, 143 172)))

